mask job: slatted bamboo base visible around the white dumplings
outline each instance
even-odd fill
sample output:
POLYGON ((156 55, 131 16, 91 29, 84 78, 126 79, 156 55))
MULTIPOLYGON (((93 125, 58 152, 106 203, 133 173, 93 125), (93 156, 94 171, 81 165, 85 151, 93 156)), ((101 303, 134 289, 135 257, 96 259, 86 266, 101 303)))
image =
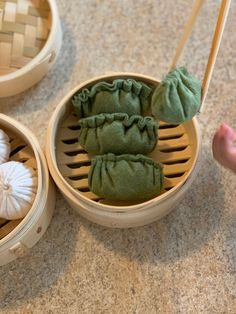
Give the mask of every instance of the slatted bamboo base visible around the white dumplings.
MULTIPOLYGON (((19 135, 15 134, 11 130, 5 130, 10 138, 11 154, 10 160, 23 162, 25 165, 32 167, 37 171, 37 162, 34 156, 33 149, 24 142, 19 135)), ((0 218, 0 240, 8 235, 15 227, 19 225, 22 219, 18 220, 6 220, 0 218)))

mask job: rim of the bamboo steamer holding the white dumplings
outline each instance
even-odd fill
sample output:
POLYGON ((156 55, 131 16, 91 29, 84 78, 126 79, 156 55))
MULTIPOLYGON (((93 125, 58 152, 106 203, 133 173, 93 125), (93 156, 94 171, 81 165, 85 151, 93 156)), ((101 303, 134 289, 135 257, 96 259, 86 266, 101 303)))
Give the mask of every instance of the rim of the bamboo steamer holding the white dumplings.
POLYGON ((32 222, 36 220, 41 213, 41 211, 39 210, 40 206, 42 209, 44 208, 44 203, 46 202, 46 195, 44 191, 47 191, 47 188, 44 187, 45 186, 47 187, 49 185, 49 175, 48 172, 45 171, 45 169, 47 169, 47 163, 34 134, 25 126, 23 126, 20 122, 4 114, 0 114, 0 128, 1 126, 9 128, 16 133, 20 132, 21 133, 20 136, 28 145, 30 145, 37 163, 38 186, 37 193, 34 202, 31 206, 31 209, 29 210, 27 215, 22 219, 19 225, 17 225, 9 234, 7 234, 4 238, 0 240, 0 249, 12 238, 14 238, 17 235, 20 235, 21 233, 24 234, 28 229, 30 229, 32 222), (24 228, 25 226, 27 226, 27 229, 24 228))

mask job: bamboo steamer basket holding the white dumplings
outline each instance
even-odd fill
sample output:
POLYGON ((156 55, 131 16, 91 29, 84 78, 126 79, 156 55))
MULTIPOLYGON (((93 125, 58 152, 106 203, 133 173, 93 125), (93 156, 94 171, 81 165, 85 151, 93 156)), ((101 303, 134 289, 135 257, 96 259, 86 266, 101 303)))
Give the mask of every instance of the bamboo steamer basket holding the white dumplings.
POLYGON ((46 159, 35 136, 19 122, 0 114, 0 128, 10 138, 10 160, 20 161, 37 172, 35 200, 23 219, 0 218, 0 266, 27 254, 45 233, 55 207, 55 188, 46 159))

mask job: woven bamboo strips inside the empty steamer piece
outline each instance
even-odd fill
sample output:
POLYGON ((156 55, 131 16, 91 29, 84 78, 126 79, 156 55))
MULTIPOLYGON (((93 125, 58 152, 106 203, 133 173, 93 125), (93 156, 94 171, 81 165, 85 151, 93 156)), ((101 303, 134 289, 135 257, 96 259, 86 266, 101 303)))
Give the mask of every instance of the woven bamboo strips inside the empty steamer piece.
POLYGON ((50 28, 46 0, 0 0, 0 75, 30 62, 45 45, 50 28))

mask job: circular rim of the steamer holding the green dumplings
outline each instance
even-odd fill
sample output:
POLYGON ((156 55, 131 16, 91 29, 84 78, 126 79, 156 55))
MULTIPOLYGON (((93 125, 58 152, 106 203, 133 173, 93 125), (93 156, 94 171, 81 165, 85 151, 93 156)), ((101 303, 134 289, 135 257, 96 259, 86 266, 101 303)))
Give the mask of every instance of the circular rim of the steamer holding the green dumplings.
POLYGON ((146 76, 146 75, 142 75, 142 74, 138 74, 138 73, 130 73, 130 72, 119 72, 119 73, 115 73, 115 74, 107 74, 107 75, 102 75, 102 76, 98 76, 95 77, 93 79, 87 80, 79 85, 77 85, 76 87, 74 87, 59 103, 59 105, 56 107, 50 121, 49 121, 49 125, 48 125, 48 129, 47 129, 47 137, 46 137, 46 158, 47 158, 47 162, 48 162, 48 167, 50 170, 50 173, 54 179, 54 181, 59 185, 61 185, 64 189, 68 189, 70 191, 71 194, 73 194, 74 196, 77 196, 78 198, 78 202, 81 201, 83 202, 83 204, 89 204, 92 205, 93 207, 97 207, 100 209, 103 209, 105 211, 111 211, 111 208, 113 210, 120 210, 122 208, 126 208, 129 210, 134 210, 134 209, 139 209, 139 208, 143 208, 146 206, 150 206, 153 205, 153 203, 156 202, 163 202, 165 199, 171 197, 171 195, 173 195, 178 189, 181 188, 181 186, 186 182, 186 180, 188 179, 188 177, 190 176, 190 174, 192 173, 196 163, 197 163, 197 159, 198 159, 198 155, 199 155, 199 151, 200 151, 200 134, 199 134, 199 127, 198 127, 198 122, 197 119, 194 117, 192 119, 192 123, 193 123, 193 127, 194 130, 196 132, 196 154, 193 156, 193 162, 192 162, 192 166, 190 171, 188 172, 188 174, 186 175, 186 177, 179 182, 175 187, 173 187, 171 190, 166 191, 165 193, 152 198, 148 201, 145 202, 141 202, 135 205, 126 205, 126 206, 116 206, 116 205, 107 205, 107 204, 101 204, 101 203, 96 203, 83 196, 79 191, 76 191, 63 177, 63 175, 61 174, 61 172, 58 169, 57 166, 57 160, 56 160, 56 154, 55 154, 55 140, 56 140, 56 135, 57 135, 57 127, 58 126, 58 122, 59 119, 61 117, 61 115, 63 114, 63 110, 65 108, 65 105, 67 104, 67 102, 71 99, 71 97, 80 89, 84 88, 87 85, 91 85, 94 82, 97 81, 101 81, 101 80, 106 80, 106 79, 117 79, 117 78, 130 78, 132 77, 133 79, 144 79, 145 81, 149 81, 152 84, 159 84, 160 80, 157 80, 153 77, 150 76, 146 76))

